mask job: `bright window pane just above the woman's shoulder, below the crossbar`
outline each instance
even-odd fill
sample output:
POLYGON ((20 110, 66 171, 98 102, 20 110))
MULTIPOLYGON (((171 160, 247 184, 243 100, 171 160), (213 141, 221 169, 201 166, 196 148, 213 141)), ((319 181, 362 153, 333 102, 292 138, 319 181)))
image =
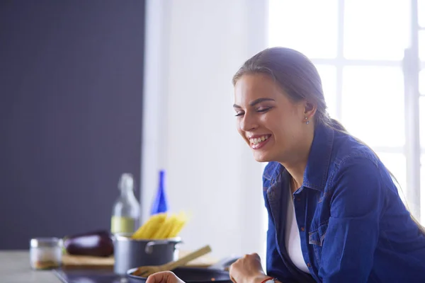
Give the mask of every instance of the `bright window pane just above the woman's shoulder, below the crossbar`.
POLYGON ((344 67, 341 122, 369 146, 404 146, 399 67, 344 67))

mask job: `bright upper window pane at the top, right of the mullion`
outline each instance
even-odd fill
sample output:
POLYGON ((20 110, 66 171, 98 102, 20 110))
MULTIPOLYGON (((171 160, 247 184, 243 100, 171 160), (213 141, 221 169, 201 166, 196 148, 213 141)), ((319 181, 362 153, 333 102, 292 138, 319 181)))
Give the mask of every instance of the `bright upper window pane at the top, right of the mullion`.
POLYGON ((409 40, 407 4, 406 0, 345 0, 344 57, 401 60, 409 40))

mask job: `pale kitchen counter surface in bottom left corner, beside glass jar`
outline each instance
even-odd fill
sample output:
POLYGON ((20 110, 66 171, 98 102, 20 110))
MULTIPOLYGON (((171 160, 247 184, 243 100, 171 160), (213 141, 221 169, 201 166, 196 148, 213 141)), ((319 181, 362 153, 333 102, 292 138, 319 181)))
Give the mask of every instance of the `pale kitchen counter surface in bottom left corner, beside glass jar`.
POLYGON ((32 270, 28 250, 0 250, 0 282, 60 283, 50 270, 32 270))

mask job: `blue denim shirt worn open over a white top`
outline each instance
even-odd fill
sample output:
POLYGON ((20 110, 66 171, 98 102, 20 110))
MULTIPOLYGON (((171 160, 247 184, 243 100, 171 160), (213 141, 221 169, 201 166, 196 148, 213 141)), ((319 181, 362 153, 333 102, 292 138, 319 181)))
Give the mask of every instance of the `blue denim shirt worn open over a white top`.
POLYGON ((425 282, 425 236, 367 146, 324 125, 315 129, 302 186, 293 193, 310 275, 285 249, 289 178, 276 162, 263 173, 268 275, 285 283, 425 282))

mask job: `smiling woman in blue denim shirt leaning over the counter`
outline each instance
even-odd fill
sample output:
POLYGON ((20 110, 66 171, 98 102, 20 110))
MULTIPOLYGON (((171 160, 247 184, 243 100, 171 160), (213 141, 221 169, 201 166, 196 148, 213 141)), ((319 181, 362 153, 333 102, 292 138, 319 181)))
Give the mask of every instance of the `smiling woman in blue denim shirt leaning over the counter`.
MULTIPOLYGON (((267 275, 253 254, 231 266, 232 280, 425 282, 424 229, 375 153, 327 115, 312 62, 270 48, 233 83, 239 134, 256 161, 268 162, 268 232, 267 275)), ((181 281, 165 272, 154 282, 181 281)))

